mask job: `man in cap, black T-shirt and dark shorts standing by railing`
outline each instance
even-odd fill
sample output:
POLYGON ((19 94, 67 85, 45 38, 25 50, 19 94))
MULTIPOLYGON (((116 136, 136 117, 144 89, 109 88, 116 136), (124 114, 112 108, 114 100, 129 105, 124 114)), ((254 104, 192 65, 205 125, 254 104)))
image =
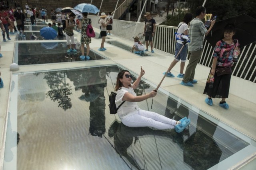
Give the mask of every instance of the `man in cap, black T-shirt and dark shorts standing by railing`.
POLYGON ((155 29, 156 29, 156 21, 152 18, 152 15, 150 12, 146 12, 146 21, 145 21, 145 27, 144 27, 144 33, 145 41, 146 41, 146 49, 145 51, 148 51, 148 41, 150 41, 150 47, 151 47, 151 53, 154 53, 153 50, 153 36, 155 35, 155 29))

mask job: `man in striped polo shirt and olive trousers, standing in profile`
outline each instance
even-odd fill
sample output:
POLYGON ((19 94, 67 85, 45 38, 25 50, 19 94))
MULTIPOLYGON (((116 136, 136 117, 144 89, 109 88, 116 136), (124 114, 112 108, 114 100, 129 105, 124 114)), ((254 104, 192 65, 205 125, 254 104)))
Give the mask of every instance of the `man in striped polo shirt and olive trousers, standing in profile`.
POLYGON ((194 83, 197 83, 197 80, 194 80, 196 65, 200 60, 203 49, 204 35, 207 35, 212 29, 215 20, 211 21, 211 26, 207 30, 204 26, 202 20, 206 15, 206 9, 203 6, 198 6, 196 8, 196 18, 190 21, 190 26, 188 29, 188 35, 190 37, 190 43, 188 43, 188 57, 189 62, 186 67, 186 72, 181 85, 184 86, 194 86, 194 83))

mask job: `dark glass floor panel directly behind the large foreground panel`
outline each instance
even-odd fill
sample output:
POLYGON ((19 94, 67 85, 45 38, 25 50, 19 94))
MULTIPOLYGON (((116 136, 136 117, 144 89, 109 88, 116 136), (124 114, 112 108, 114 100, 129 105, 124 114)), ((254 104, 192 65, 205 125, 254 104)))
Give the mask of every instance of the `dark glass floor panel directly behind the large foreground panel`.
MULTIPOLYGON (((80 43, 76 43, 77 53, 67 53, 68 47, 66 42, 16 43, 14 63, 28 65, 81 61, 79 58, 82 55, 80 48, 80 43)), ((91 50, 89 57, 90 60, 105 59, 91 50)))

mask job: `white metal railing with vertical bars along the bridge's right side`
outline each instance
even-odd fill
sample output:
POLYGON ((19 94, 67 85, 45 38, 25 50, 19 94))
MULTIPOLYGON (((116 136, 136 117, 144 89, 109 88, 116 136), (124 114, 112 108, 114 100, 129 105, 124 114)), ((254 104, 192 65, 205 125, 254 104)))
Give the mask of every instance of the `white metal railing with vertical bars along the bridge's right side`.
MULTIPOLYGON (((94 27, 99 27, 98 17, 89 16, 92 19, 92 25, 94 27)), ((138 36, 143 44, 145 44, 143 30, 144 23, 137 23, 132 21, 123 20, 113 20, 111 33, 121 37, 123 39, 128 39, 133 41, 132 37, 138 36)), ((164 53, 174 55, 175 54, 175 34, 178 27, 156 25, 155 36, 154 36, 154 49, 160 50, 164 53)), ((237 76, 244 80, 250 82, 256 82, 256 43, 251 43, 240 49, 241 54, 238 57, 238 63, 235 63, 232 67, 233 76, 237 76)), ((204 40, 204 48, 202 52, 202 57, 199 64, 207 67, 212 65, 212 54, 213 48, 204 40)))

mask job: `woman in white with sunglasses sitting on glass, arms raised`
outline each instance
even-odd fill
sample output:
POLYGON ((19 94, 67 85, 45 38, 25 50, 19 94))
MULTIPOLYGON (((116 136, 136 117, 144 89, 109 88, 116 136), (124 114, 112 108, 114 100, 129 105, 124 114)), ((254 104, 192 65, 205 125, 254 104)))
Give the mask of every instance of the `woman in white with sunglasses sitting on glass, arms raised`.
POLYGON ((134 89, 139 85, 141 77, 145 70, 140 68, 140 75, 132 84, 132 76, 128 70, 122 70, 118 73, 115 90, 116 106, 119 106, 124 100, 124 104, 118 109, 118 116, 122 123, 128 127, 154 127, 156 129, 174 129, 177 132, 183 131, 189 125, 190 119, 184 117, 180 121, 169 119, 163 115, 152 111, 139 109, 137 102, 156 96, 157 92, 152 91, 142 96, 136 96, 134 89))

